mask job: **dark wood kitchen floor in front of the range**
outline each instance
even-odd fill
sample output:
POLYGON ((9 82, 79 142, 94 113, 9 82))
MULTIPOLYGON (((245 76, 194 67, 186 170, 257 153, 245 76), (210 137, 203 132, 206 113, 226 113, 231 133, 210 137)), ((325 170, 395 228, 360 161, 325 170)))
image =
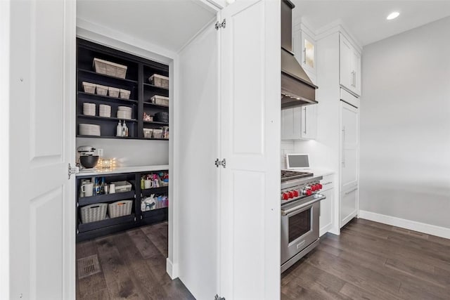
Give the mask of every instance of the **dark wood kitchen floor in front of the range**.
POLYGON ((354 219, 281 276, 282 299, 450 299, 450 240, 354 219))

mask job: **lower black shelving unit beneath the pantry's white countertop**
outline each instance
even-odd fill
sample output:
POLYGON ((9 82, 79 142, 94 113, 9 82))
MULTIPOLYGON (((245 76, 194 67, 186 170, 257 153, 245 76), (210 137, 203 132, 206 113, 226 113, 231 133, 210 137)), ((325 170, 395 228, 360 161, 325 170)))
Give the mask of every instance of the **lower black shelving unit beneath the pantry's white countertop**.
POLYGON ((152 209, 150 211, 141 211, 141 200, 152 194, 155 195, 169 195, 169 187, 162 186, 160 188, 149 188, 141 190, 140 181, 144 174, 168 172, 167 170, 146 171, 146 172, 129 172, 121 174, 98 174, 96 176, 77 176, 77 242, 82 240, 89 240, 95 237, 108 235, 110 233, 117 233, 122 230, 135 228, 143 225, 149 225, 162 221, 167 221, 168 209, 162 207, 152 209), (131 191, 114 193, 108 195, 93 195, 90 197, 80 197, 80 188, 83 179, 91 179, 93 177, 105 177, 107 183, 113 181, 129 181, 131 183, 131 191), (89 223, 82 223, 80 216, 80 209, 89 204, 96 203, 113 203, 120 200, 133 200, 131 207, 131 214, 127 216, 120 216, 117 218, 107 218, 101 221, 94 221, 89 223))

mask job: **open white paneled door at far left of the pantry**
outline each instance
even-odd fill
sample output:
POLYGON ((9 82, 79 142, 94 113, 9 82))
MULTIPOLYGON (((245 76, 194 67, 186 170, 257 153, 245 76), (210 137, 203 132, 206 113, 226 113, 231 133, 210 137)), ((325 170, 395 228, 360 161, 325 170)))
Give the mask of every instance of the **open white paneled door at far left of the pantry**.
POLYGON ((75 1, 11 1, 11 299, 75 299, 75 1))

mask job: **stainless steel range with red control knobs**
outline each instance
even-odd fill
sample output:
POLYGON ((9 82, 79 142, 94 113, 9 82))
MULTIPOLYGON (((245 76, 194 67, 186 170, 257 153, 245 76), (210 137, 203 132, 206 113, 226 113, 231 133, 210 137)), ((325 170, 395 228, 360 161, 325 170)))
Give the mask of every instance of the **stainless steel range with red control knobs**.
POLYGON ((319 244, 321 179, 281 170, 281 273, 319 244))

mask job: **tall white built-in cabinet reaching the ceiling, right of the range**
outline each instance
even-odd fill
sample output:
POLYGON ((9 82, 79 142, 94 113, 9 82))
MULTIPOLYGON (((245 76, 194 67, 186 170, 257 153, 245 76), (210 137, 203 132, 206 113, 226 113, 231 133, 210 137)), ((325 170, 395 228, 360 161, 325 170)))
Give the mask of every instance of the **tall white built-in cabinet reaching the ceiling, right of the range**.
POLYGON ((327 138, 330 167, 338 171, 333 211, 333 233, 339 233, 358 214, 359 105, 361 96, 361 47, 338 25, 316 37, 316 98, 321 115, 328 116, 327 138))

